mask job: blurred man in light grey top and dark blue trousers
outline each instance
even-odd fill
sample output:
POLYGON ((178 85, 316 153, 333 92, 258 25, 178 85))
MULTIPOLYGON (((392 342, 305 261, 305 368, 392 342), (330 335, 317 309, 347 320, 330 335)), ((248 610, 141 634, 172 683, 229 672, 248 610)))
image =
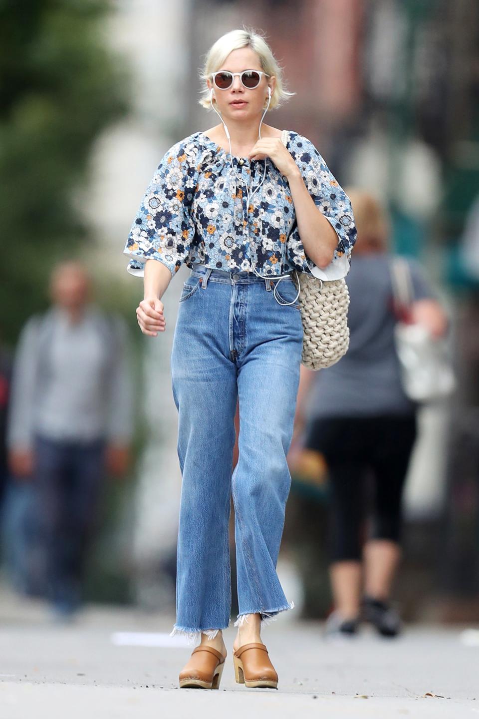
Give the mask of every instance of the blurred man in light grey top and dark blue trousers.
POLYGON ((126 324, 96 306, 88 271, 60 262, 52 306, 22 329, 14 358, 7 444, 17 482, 32 482, 55 616, 81 604, 86 551, 106 473, 124 475, 131 441, 126 324))

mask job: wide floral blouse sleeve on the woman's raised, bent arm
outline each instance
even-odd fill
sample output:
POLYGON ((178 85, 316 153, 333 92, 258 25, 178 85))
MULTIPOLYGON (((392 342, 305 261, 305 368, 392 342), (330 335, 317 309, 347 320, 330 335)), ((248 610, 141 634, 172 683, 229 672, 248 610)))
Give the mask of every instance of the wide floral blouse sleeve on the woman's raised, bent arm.
POLYGON ((327 267, 317 267, 304 252, 295 223, 287 239, 289 262, 302 272, 312 273, 321 280, 340 280, 349 272, 351 251, 357 234, 350 200, 309 139, 295 134, 289 152, 301 170, 312 199, 338 235, 332 261, 327 267))

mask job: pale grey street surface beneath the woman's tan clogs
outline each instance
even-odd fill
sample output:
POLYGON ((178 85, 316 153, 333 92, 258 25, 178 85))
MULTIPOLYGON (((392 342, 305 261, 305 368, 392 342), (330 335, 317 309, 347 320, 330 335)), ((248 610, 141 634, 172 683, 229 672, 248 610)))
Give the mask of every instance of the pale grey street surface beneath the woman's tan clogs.
MULTIPOLYGON (((262 636, 279 674, 278 691, 236 684, 231 651, 219 692, 180 691, 177 673, 192 648, 181 637, 169 638, 172 617, 88 605, 76 623, 55 626, 44 605, 19 600, 4 588, 0 605, 1 719, 53 719, 65 712, 76 719, 88 711, 108 718, 218 711, 232 719, 248 711, 279 718, 354 713, 382 719, 479 713, 479 646, 465 646, 459 626, 409 626, 396 641, 364 630, 338 644, 322 638, 320 622, 280 619, 262 636), (258 693, 261 704, 257 696, 251 699, 258 693)), ((231 623, 228 649, 234 633, 231 623)))

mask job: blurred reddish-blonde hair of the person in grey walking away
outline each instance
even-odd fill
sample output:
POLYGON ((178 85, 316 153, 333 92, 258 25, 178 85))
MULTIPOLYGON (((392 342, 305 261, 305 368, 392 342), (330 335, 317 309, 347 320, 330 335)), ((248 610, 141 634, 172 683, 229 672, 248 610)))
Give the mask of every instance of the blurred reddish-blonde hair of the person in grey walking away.
POLYGON ((356 187, 343 188, 353 207, 358 239, 354 252, 387 252, 391 222, 383 203, 367 190, 356 187))

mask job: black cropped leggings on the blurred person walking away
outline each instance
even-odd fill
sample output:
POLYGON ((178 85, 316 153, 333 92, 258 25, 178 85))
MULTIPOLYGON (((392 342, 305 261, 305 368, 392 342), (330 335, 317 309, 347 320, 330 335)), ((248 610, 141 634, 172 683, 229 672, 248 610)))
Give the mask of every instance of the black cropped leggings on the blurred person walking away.
POLYGON ((399 543, 401 499, 416 434, 415 415, 316 418, 310 422, 305 446, 321 452, 328 467, 331 562, 361 561, 368 497, 371 538, 399 543))

